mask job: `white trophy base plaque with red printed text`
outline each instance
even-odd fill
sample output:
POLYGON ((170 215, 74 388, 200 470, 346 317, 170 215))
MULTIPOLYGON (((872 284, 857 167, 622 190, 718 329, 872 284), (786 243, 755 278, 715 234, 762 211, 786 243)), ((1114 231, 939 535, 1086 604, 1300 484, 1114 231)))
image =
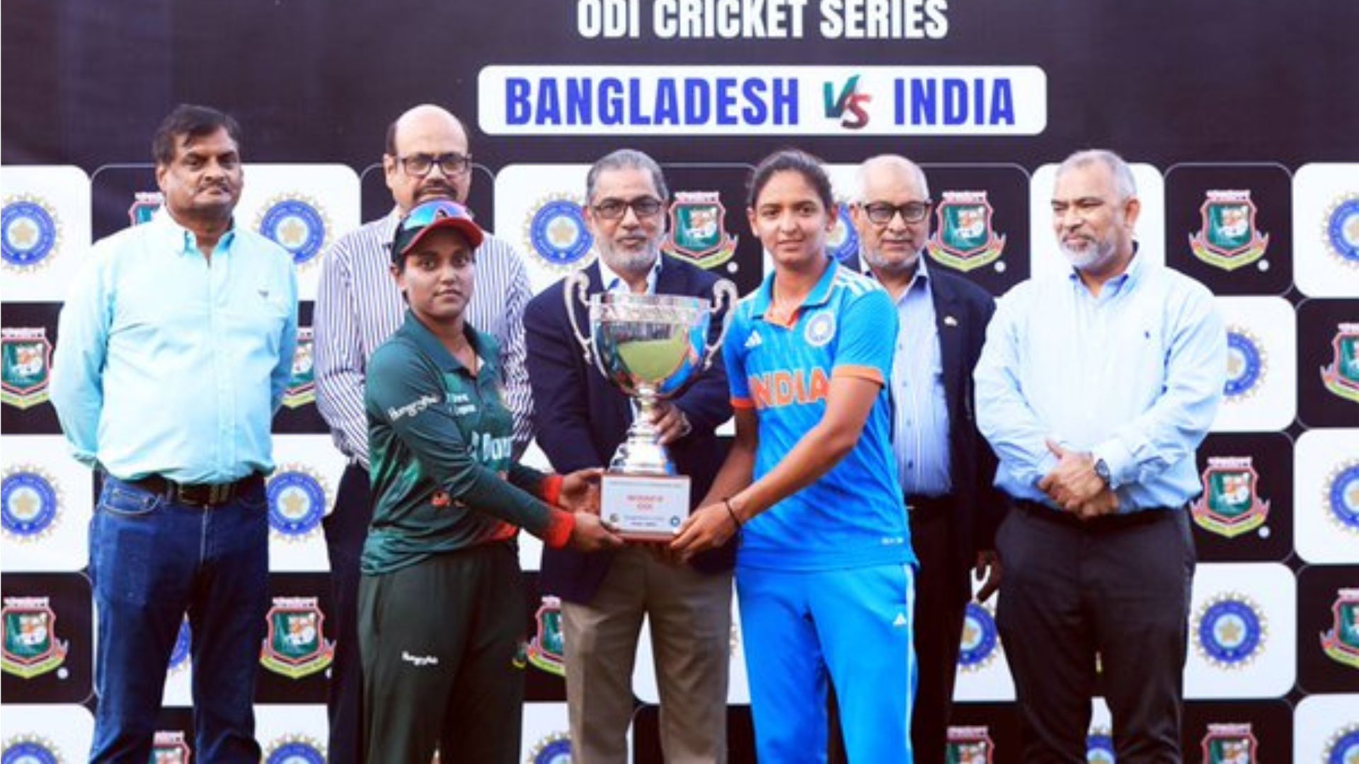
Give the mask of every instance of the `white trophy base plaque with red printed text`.
POLYGON ((599 517, 625 541, 669 541, 689 517, 685 474, 606 472, 599 491, 599 517))

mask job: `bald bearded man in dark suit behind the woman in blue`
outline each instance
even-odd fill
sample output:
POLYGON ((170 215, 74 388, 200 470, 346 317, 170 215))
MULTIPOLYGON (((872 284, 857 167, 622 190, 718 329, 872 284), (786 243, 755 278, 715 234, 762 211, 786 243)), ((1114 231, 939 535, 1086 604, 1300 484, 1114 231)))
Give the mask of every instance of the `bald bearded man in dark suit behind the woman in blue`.
POLYGON ((1004 498, 991 485, 996 458, 977 432, 972 370, 981 355, 995 302, 985 290, 925 265, 930 185, 924 171, 896 155, 859 167, 851 218, 859 256, 897 306, 901 332, 893 355, 893 451, 911 517, 916 578, 915 643, 919 684, 911 719, 916 761, 942 763, 953 704, 962 621, 972 586, 987 578, 985 601, 1000 579, 995 529, 1004 498))

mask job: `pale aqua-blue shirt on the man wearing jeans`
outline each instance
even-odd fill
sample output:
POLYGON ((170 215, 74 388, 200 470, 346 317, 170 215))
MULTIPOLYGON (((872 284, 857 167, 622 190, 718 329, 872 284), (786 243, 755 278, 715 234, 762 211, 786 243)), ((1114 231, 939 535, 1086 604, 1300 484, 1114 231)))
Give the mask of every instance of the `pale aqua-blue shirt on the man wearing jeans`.
POLYGON ((269 472, 296 334, 287 250, 234 228, 209 262, 162 209, 82 265, 57 328, 52 404, 76 458, 122 480, 269 472))

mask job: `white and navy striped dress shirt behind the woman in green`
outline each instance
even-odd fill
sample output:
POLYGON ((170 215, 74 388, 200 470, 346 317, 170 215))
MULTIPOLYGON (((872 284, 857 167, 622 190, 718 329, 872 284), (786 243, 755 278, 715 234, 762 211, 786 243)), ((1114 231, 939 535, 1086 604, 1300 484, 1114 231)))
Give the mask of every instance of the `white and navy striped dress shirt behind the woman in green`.
MULTIPOLYGON (((391 279, 389 246, 401 220, 393 209, 340 237, 322 260, 313 317, 317 408, 336 447, 368 466, 368 416, 363 385, 368 359, 400 326, 406 313, 391 279)), ((529 276, 519 253, 491 234, 477 247, 476 288, 467 322, 500 344, 506 406, 514 415, 515 453, 533 439, 533 393, 525 370, 523 307, 529 276)))

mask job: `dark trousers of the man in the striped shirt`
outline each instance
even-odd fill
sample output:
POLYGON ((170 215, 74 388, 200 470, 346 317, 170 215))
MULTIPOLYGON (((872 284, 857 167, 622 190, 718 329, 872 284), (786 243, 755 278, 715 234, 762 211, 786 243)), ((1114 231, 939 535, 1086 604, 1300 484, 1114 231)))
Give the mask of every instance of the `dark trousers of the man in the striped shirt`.
POLYGON ((372 519, 368 470, 351 464, 340 479, 334 511, 325 519, 330 555, 329 613, 336 624, 336 654, 330 663, 330 764, 363 761, 363 665, 359 661, 359 557, 372 519))

